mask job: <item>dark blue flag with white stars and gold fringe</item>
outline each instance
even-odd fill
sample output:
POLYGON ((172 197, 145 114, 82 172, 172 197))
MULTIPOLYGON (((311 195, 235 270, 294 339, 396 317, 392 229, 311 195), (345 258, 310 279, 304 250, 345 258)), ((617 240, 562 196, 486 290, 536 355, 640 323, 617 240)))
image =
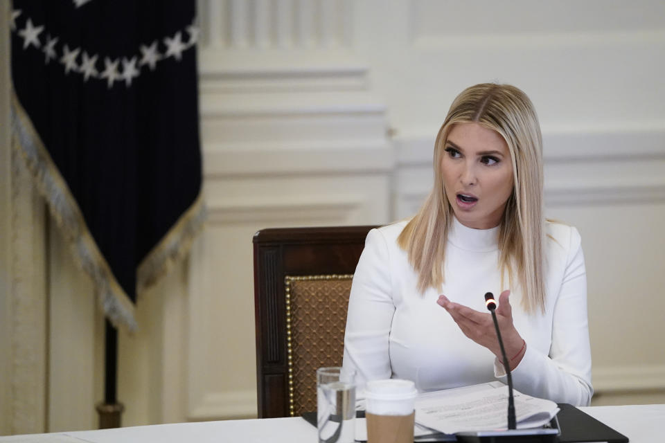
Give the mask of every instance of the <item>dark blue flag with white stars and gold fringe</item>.
POLYGON ((194 1, 15 0, 12 143, 105 314, 202 226, 194 1))

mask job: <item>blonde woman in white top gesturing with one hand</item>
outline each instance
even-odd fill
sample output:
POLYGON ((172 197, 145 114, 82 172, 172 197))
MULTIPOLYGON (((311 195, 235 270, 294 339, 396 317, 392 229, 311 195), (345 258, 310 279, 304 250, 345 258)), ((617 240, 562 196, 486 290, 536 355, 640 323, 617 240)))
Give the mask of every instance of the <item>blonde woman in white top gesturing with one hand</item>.
POLYGON ((542 141, 529 98, 477 84, 436 137, 434 189, 412 219, 371 230, 348 304, 344 366, 360 383, 436 390, 505 381, 488 291, 515 389, 586 406, 591 352, 580 236, 542 215, 542 141))

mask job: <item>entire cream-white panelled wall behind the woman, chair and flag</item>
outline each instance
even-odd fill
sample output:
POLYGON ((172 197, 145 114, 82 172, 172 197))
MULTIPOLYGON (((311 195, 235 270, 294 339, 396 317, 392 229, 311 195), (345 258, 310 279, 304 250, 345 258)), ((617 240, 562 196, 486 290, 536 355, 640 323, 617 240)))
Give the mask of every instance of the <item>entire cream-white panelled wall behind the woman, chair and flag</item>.
MULTIPOLYGON (((664 2, 198 4, 211 217, 190 259, 139 301, 139 332, 121 334, 124 424, 254 416, 251 235, 410 215, 431 186, 450 102, 486 81, 532 98, 547 215, 583 236, 595 404, 665 403, 664 2)), ((49 287, 48 428, 90 428, 101 322, 70 320, 67 307, 92 294, 50 232, 60 277, 49 287), (67 377, 75 364, 82 383, 67 377)))

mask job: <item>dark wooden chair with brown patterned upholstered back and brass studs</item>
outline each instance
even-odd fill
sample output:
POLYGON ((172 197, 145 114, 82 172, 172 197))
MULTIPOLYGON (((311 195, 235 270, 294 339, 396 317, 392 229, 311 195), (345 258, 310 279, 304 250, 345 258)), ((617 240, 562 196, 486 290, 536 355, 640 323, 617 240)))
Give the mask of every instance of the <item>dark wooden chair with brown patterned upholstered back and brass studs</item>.
POLYGON ((375 226, 254 235, 258 417, 317 408, 316 370, 342 365, 351 280, 375 226))

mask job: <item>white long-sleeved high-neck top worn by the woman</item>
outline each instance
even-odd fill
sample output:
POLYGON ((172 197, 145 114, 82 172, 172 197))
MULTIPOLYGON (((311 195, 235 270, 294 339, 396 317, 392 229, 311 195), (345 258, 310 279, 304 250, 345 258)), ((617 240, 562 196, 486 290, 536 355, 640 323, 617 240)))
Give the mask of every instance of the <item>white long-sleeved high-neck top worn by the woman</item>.
POLYGON ((474 230, 454 221, 446 245, 442 291, 416 291, 417 275, 396 239, 406 222, 372 230, 351 288, 344 366, 359 381, 411 379, 435 390, 505 379, 485 347, 465 337, 445 309, 450 300, 485 311, 483 295, 511 289, 513 321, 525 338, 524 357, 513 371, 515 388, 535 397, 587 405, 592 396, 586 276, 575 228, 547 223, 544 314, 520 307, 519 288, 500 287, 497 228, 474 230))

